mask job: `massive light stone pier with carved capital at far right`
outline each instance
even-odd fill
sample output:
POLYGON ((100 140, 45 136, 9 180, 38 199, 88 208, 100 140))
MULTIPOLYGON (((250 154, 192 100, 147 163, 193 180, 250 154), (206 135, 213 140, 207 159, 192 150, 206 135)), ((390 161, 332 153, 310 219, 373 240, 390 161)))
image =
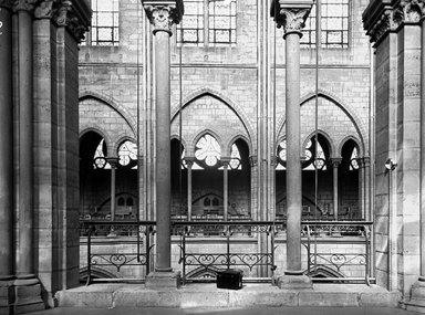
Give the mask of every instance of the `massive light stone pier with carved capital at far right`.
MULTIPOLYGON (((421 28, 423 1, 372 1, 364 28, 376 49, 376 280, 406 296, 419 264, 421 28), (385 161, 395 159, 394 171, 385 161), (403 227, 403 228, 402 228, 403 227)), ((366 179, 366 168, 364 169, 366 179)), ((367 216, 367 200, 364 211, 367 216)))

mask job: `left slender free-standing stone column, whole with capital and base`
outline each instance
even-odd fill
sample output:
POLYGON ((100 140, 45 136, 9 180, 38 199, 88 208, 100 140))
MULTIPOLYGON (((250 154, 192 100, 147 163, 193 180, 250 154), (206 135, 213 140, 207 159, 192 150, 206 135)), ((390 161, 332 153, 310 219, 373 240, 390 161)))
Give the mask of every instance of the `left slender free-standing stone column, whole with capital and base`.
POLYGON ((169 38, 173 24, 183 15, 183 1, 142 1, 155 35, 156 87, 156 266, 146 285, 177 286, 178 275, 172 269, 170 238, 170 70, 169 38))

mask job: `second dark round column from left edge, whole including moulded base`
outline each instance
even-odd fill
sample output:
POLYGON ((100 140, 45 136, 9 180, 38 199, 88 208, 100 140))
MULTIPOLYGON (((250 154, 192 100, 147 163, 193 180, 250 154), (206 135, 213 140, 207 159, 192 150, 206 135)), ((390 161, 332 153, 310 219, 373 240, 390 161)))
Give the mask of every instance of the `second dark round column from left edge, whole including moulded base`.
POLYGON ((34 102, 33 102, 33 10, 34 2, 20 0, 18 14, 18 258, 14 281, 14 313, 43 309, 41 285, 34 269, 34 102))

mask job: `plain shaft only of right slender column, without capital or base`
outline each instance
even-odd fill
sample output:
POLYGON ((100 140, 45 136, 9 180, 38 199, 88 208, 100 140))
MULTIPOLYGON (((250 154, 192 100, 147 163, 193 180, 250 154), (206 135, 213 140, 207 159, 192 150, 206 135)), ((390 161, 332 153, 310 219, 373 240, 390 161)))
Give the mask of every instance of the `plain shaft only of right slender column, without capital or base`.
POLYGON ((301 140, 300 140, 300 33, 288 32, 286 40, 287 95, 287 269, 301 270, 301 140))

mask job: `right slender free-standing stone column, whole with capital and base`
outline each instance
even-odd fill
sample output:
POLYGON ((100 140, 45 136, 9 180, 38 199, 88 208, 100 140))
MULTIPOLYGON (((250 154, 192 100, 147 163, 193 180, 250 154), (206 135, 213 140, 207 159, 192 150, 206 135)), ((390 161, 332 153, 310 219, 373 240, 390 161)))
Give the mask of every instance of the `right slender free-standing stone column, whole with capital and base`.
POLYGON ((271 17, 283 27, 286 40, 286 133, 287 133, 287 271, 279 279, 282 288, 311 288, 301 269, 301 129, 300 38, 313 1, 273 1, 271 17), (278 12, 276 12, 278 11, 278 12))

